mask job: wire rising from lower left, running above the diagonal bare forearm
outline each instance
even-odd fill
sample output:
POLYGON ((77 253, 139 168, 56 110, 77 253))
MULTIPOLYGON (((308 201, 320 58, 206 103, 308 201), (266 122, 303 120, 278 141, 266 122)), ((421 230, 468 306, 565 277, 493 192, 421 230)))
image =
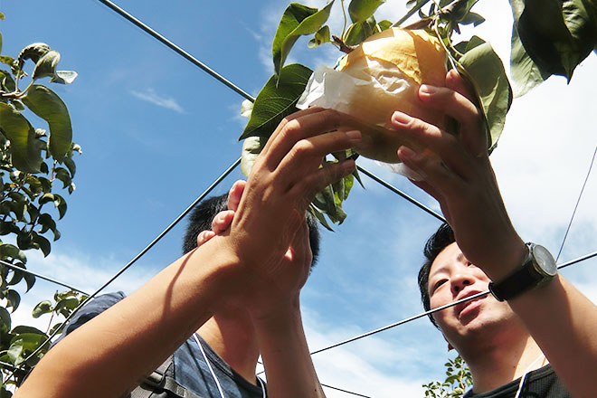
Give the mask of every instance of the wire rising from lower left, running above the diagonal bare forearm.
MULTIPOLYGON (((83 302, 81 302, 81 304, 71 312, 71 315, 69 315, 68 317, 66 317, 66 319, 64 319, 63 324, 66 324, 69 320, 71 320, 71 317, 73 317, 77 313, 77 311, 79 311, 79 309, 81 309, 85 304, 87 304, 87 302, 90 301, 90 299, 93 299, 94 297, 96 297, 98 295, 98 293, 100 293, 101 290, 106 289, 110 283, 112 283, 114 280, 116 280, 120 275, 122 275, 122 273, 124 271, 128 270, 133 264, 135 264, 135 262, 137 262, 137 260, 139 260, 145 253, 147 253, 147 251, 149 251, 149 249, 151 249, 157 242, 159 242, 166 235, 167 232, 170 232, 170 230, 172 230, 177 223, 180 223, 180 221, 183 218, 185 218, 185 215, 193 209, 195 204, 198 204, 199 202, 201 202, 207 194, 210 194, 210 192, 212 192, 213 188, 215 188, 217 185, 219 185, 223 181, 223 179, 226 178, 228 175, 230 175, 232 173, 232 171, 240 164, 241 164, 241 158, 239 157, 234 163, 232 163, 231 166, 229 166, 226 169, 226 171, 223 172, 222 175, 220 175, 213 182, 212 185, 210 185, 206 190, 204 190, 203 194, 200 194, 199 197, 197 197, 194 200, 194 202, 192 204, 190 204, 185 209, 185 211, 183 213, 181 213, 178 217, 176 217, 175 221, 170 223, 170 225, 168 225, 164 231, 162 231, 159 235, 157 235, 156 239, 154 239, 152 242, 150 242, 145 247, 145 249, 140 251, 137 254, 137 256, 135 256, 135 258, 133 258, 133 260, 128 261, 128 264, 125 265, 124 267, 122 267, 121 270, 119 270, 112 278, 110 278, 106 283, 104 283, 100 287, 100 289, 95 290, 93 293, 90 294, 90 296, 87 299, 83 300, 83 302)), ((33 358, 34 355, 37 355, 37 353, 39 353, 42 350, 43 346, 45 346, 48 341, 52 340, 52 338, 58 334, 59 330, 60 330, 60 328, 57 328, 56 330, 54 330, 54 332, 50 336, 48 336, 48 339, 46 341, 44 341, 42 345, 38 346, 37 349, 35 349, 33 351, 33 353, 31 353, 29 356, 27 356, 24 359, 23 363, 26 363, 31 358, 33 358)), ((17 369, 18 369, 18 367, 17 367, 17 369)), ((9 376, 9 378, 14 375, 15 371, 16 370, 13 371, 13 373, 9 376)))

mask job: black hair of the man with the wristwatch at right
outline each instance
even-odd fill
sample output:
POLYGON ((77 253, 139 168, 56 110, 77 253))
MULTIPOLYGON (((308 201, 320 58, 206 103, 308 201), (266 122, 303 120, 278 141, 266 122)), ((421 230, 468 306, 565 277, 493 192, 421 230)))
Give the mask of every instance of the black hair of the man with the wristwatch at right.
MULTIPOLYGON (((419 290, 421 290, 421 301, 425 311, 431 309, 431 300, 429 297, 429 272, 431 271, 431 264, 435 258, 448 247, 451 243, 456 242, 454 232, 447 223, 442 223, 440 228, 431 235, 425 243, 423 254, 425 255, 425 262, 423 262, 421 270, 419 270, 419 290)), ((435 319, 429 315, 431 323, 438 327, 435 319)))

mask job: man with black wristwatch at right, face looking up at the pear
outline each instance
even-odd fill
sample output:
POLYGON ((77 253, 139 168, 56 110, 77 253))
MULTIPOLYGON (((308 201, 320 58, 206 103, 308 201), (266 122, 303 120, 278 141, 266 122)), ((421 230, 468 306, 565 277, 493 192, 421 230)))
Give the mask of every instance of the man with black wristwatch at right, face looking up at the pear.
POLYGON ((393 115, 399 134, 431 149, 429 155, 401 147, 398 156, 422 177, 413 184, 438 200, 451 227, 442 227, 427 244, 420 273, 425 308, 485 291, 490 281, 504 299, 488 295, 433 315, 469 365, 474 385, 467 397, 514 397, 517 379, 547 361, 556 376, 549 368, 538 371, 519 396, 595 396, 597 308, 564 277, 545 272, 537 262, 554 266, 553 258, 527 247, 510 223, 473 96, 450 71, 445 88, 423 85, 419 97, 460 125, 454 136, 403 113, 393 115), (530 268, 534 261, 543 275, 530 268))

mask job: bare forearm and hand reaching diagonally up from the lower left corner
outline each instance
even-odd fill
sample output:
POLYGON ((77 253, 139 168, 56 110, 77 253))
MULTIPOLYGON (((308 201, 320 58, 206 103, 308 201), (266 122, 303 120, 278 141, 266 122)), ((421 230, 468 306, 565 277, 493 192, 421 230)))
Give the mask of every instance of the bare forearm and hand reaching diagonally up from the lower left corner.
POLYGON ((74 330, 43 357, 15 398, 120 397, 218 306, 264 302, 260 290, 278 279, 280 261, 304 231, 306 205, 354 170, 352 161, 319 169, 327 153, 359 141, 357 132, 327 133, 341 125, 340 115, 321 109, 280 124, 253 167, 230 231, 74 330))

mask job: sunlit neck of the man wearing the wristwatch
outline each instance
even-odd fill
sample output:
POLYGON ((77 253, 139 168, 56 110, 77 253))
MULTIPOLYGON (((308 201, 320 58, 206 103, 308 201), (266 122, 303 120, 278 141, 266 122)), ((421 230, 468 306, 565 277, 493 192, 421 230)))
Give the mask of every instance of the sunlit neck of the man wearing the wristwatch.
POLYGON ((476 354, 461 355, 469 365, 475 393, 485 393, 508 384, 546 362, 545 357, 536 360, 543 353, 528 335, 478 348, 476 354), (479 355, 479 352, 483 354, 479 355))

